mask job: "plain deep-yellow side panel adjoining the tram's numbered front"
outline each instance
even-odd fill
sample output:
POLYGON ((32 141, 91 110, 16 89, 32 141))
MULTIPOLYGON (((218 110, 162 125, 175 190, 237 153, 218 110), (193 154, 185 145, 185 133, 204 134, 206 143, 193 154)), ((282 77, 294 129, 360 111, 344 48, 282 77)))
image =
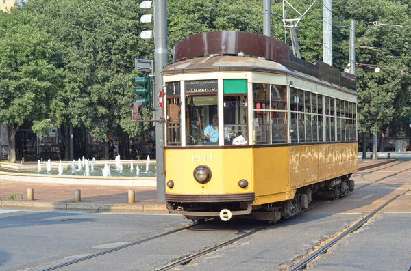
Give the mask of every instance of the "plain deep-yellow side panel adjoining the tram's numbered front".
POLYGON ((288 146, 253 148, 255 205, 292 199, 288 146))

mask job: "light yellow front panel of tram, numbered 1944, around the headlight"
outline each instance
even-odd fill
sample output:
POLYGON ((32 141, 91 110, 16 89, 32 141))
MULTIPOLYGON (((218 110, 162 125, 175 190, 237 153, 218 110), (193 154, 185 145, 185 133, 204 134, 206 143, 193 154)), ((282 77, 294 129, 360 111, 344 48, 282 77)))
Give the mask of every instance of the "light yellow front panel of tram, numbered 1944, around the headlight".
POLYGON ((166 149, 166 182, 173 180, 173 188, 166 193, 179 195, 226 195, 253 192, 251 149, 166 149), (193 177, 194 169, 206 165, 212 177, 200 184, 193 177), (240 188, 238 182, 249 182, 240 188))

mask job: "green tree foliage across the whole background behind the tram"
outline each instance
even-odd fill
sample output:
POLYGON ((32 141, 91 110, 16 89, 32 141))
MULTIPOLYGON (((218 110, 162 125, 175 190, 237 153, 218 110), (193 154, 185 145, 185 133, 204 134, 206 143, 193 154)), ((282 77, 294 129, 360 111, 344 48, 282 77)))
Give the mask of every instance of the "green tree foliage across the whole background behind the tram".
MULTIPOLYGON (((312 0, 289 1, 304 12, 312 0)), ((349 55, 349 24, 356 23, 360 130, 400 132, 410 119, 410 1, 344 0, 333 3, 334 66, 349 55), (370 22, 403 25, 376 26, 370 22), (369 50, 367 47, 377 48, 369 50), (367 65, 362 65, 362 64, 367 65), (369 65, 389 67, 375 73, 369 65)), ((322 59, 322 1, 297 27, 301 55, 322 59)), ((61 124, 84 128, 98 139, 126 132, 145 137, 151 122, 132 122, 134 58, 153 59, 153 40, 142 40, 142 14, 135 0, 29 0, 0 13, 0 122, 25 121, 47 132, 61 124)), ((273 37, 290 44, 282 3, 272 2, 273 37)), ((298 18, 288 7, 288 18, 298 18)), ((261 0, 168 1, 169 52, 188 35, 206 31, 262 33, 261 0)), ((155 101, 154 101, 155 102, 155 101)), ((140 119, 152 119, 144 108, 140 119)))

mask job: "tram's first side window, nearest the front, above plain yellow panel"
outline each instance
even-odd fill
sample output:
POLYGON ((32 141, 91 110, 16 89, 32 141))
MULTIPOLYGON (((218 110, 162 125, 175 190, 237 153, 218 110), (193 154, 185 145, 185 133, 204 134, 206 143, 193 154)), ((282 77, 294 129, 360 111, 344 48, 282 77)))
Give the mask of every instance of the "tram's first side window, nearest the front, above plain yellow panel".
POLYGON ((288 143, 287 86, 253 83, 253 144, 288 143))

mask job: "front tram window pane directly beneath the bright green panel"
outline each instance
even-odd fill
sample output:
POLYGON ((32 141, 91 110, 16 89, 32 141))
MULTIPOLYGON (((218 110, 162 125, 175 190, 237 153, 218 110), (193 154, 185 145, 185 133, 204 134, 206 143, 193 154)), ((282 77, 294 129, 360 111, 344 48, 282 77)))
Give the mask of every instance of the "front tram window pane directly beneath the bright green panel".
POLYGON ((247 96, 224 96, 224 126, 225 145, 239 136, 247 141, 247 96))

